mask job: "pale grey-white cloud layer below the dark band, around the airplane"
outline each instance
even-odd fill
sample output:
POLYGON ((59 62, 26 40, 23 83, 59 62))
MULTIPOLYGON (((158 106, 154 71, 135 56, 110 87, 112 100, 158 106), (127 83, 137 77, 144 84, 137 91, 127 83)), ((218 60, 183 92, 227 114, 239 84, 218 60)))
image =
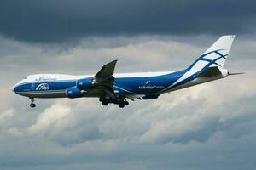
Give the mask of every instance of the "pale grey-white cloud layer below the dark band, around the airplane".
POLYGON ((239 37, 226 63, 245 75, 131 102, 125 109, 104 107, 98 99, 36 99, 37 108, 31 109, 29 99, 10 90, 32 73, 93 74, 120 55, 117 72, 180 69, 213 39, 93 37, 63 49, 0 38, 8 44, 0 57, 0 168, 251 169, 253 38, 239 37))

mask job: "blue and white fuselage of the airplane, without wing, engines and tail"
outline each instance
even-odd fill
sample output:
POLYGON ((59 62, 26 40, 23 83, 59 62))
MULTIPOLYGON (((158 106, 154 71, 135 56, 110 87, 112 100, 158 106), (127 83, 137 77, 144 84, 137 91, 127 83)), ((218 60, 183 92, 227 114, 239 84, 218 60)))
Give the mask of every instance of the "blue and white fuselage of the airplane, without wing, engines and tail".
MULTIPOLYGON (((209 82, 227 76, 224 70, 222 75, 215 77, 188 77, 183 82, 174 82, 182 77, 186 71, 172 72, 143 72, 113 74, 113 90, 117 95, 149 95, 164 94, 181 88, 187 88, 202 82, 209 82)), ((80 79, 90 79, 93 75, 72 76, 61 74, 38 74, 25 77, 22 81, 15 84, 13 91, 15 94, 30 98, 65 98, 67 88, 77 86, 80 79)), ((90 91, 90 90, 89 90, 90 91)), ((101 94, 87 93, 83 97, 101 97, 101 94)))

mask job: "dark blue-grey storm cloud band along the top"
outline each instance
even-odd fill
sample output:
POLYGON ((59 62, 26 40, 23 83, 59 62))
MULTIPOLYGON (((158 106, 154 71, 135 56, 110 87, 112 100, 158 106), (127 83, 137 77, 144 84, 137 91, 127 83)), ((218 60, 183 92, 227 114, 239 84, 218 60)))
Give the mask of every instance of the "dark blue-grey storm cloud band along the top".
POLYGON ((3 0, 0 34, 63 42, 117 34, 251 33, 255 1, 3 0))

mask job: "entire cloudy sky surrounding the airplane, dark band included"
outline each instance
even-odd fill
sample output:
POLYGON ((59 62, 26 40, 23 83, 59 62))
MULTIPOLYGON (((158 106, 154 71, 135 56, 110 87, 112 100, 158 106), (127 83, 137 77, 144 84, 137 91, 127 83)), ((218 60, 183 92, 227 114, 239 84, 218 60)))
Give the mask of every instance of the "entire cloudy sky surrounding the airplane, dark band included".
POLYGON ((253 169, 255 1, 0 1, 0 169, 253 169), (125 109, 98 99, 29 99, 38 73, 175 71, 236 34, 225 68, 246 74, 125 109))

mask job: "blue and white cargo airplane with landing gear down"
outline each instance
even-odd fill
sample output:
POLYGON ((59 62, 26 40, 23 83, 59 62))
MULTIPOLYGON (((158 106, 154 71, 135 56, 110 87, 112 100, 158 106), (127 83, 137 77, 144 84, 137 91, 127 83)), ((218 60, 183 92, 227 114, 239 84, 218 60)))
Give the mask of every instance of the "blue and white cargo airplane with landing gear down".
POLYGON ((103 65, 96 75, 72 76, 37 74, 15 84, 13 92, 26 96, 35 107, 35 98, 99 98, 102 105, 129 105, 128 99, 157 99, 161 94, 189 88, 230 75, 224 69, 235 35, 222 36, 189 67, 181 71, 114 74, 117 60, 103 65))

